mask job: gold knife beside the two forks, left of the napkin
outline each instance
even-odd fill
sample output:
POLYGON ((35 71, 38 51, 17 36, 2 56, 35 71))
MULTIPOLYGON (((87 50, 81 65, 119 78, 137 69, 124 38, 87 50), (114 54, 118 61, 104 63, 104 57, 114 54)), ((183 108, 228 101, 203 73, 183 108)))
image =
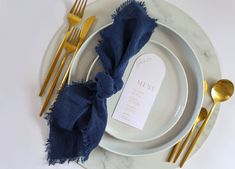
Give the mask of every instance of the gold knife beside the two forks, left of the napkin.
POLYGON ((66 73, 63 77, 63 80, 60 84, 60 89, 63 88, 64 84, 66 83, 67 79, 68 79, 68 76, 69 76, 69 72, 70 72, 70 69, 72 67, 72 64, 73 64, 73 61, 74 61, 74 58, 76 56, 76 53, 77 51, 80 49, 80 47, 82 46, 82 44, 84 43, 86 37, 87 37, 87 34, 89 33, 94 21, 95 21, 95 16, 90 16, 83 24, 82 26, 82 29, 81 29, 81 33, 80 33, 80 37, 79 37, 79 42, 78 42, 78 46, 77 46, 77 50, 74 52, 74 55, 73 55, 73 58, 69 64, 69 67, 67 68, 66 70, 66 73))

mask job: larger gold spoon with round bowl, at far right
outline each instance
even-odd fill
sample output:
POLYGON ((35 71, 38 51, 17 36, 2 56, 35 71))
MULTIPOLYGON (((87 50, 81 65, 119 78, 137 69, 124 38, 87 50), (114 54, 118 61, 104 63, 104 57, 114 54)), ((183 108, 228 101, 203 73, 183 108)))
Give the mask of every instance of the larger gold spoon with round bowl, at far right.
POLYGON ((208 121, 210 120, 216 105, 230 99, 232 97, 233 93, 234 93, 234 85, 229 80, 222 79, 222 80, 219 80, 218 82, 216 82, 216 84, 214 84, 214 86, 211 89, 211 97, 213 99, 213 106, 212 106, 211 110, 209 111, 207 118, 205 119, 202 126, 198 130, 197 135, 195 136, 193 142, 191 143, 188 151, 184 155, 184 158, 180 162, 180 167, 182 167, 184 165, 185 161, 188 159, 189 155, 191 154, 200 135, 202 134, 204 128, 206 127, 208 121))

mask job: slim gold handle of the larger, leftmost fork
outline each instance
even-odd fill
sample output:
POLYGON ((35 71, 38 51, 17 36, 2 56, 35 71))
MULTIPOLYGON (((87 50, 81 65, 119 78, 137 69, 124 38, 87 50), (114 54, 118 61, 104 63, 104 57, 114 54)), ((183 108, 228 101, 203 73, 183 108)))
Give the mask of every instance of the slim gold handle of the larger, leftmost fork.
POLYGON ((46 79, 45 79, 45 81, 43 82, 43 85, 42 85, 41 91, 40 91, 40 93, 39 93, 39 96, 42 96, 43 93, 45 92, 45 89, 46 89, 46 87, 47 87, 47 85, 48 85, 48 82, 49 82, 49 80, 50 80, 50 78, 51 78, 51 75, 52 75, 52 73, 53 73, 53 71, 54 71, 54 69, 55 69, 55 66, 56 66, 56 64, 57 64, 57 62, 58 62, 58 60, 59 60, 59 58, 60 58, 60 55, 61 55, 61 53, 62 53, 62 51, 63 51, 63 47, 64 47, 64 44, 65 44, 65 41, 66 41, 66 37, 67 37, 67 36, 65 35, 63 41, 61 42, 61 44, 60 44, 60 46, 59 46, 59 48, 58 48, 58 50, 57 50, 57 52, 56 52, 56 55, 55 55, 55 57, 54 57, 54 59, 53 59, 53 61, 52 61, 52 64, 51 64, 51 66, 50 66, 50 69, 49 69, 49 71, 48 71, 48 73, 47 73, 46 79))

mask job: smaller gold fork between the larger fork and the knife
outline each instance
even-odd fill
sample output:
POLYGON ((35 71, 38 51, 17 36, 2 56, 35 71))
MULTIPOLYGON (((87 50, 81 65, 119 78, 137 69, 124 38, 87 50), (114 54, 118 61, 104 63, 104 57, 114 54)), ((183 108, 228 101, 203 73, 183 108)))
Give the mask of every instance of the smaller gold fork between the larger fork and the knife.
POLYGON ((44 111, 46 110, 47 108, 47 105, 51 99, 51 96, 53 94, 53 91, 56 87, 56 84, 58 82, 58 79, 60 77, 60 74, 64 68, 64 65, 66 63, 66 60, 68 58, 68 56, 72 53, 74 53, 76 50, 77 50, 77 46, 78 46, 78 43, 79 43, 79 35, 80 35, 80 29, 79 28, 76 28, 76 27, 73 27, 71 29, 71 31, 69 31, 67 34, 66 34, 66 42, 64 44, 64 48, 65 48, 65 54, 64 54, 64 57, 63 57, 63 60, 59 66, 59 69, 58 71, 56 72, 56 75, 54 77, 54 80, 52 82, 52 85, 51 85, 51 88, 47 94, 47 97, 46 97, 46 100, 43 104, 43 107, 42 107, 42 110, 40 112, 40 116, 43 115, 44 111))

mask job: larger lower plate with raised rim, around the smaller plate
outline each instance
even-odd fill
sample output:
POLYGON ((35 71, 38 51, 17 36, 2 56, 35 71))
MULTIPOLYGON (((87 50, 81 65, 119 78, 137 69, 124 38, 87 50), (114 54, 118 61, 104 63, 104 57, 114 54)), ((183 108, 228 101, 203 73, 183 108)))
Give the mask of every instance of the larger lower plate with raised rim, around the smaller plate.
MULTIPOLYGON (((89 71, 97 54, 95 52, 96 40, 84 43, 78 52, 70 71, 69 83, 72 81, 82 81, 89 71), (81 54, 82 53, 82 54, 81 54)), ((149 142, 133 143, 126 142, 115 137, 104 134, 100 146, 113 153, 126 156, 140 156, 159 152, 177 143, 184 137, 196 120, 203 100, 203 75, 200 64, 188 43, 174 30, 159 23, 151 40, 163 44, 169 48, 182 63, 188 80, 188 100, 183 115, 179 121, 168 132, 157 139, 149 142)), ((172 102, 169 102, 171 104, 172 102)))

